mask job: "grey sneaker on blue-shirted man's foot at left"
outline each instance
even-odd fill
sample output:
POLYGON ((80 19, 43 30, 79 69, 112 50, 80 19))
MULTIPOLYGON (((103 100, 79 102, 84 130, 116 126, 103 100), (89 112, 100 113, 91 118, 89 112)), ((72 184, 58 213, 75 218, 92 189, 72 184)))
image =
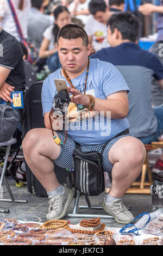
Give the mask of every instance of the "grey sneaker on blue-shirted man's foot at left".
POLYGON ((64 187, 64 193, 60 194, 60 196, 48 197, 50 199, 50 205, 48 208, 48 214, 46 216, 47 220, 59 220, 63 218, 74 197, 75 189, 69 189, 66 184, 62 185, 64 187))

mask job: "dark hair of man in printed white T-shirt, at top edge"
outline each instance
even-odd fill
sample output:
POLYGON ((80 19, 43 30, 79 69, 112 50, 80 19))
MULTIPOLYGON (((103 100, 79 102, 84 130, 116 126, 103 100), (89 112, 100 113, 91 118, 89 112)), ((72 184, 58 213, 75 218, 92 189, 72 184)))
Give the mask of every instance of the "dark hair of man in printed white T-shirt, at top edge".
POLYGON ((103 11, 105 13, 106 3, 104 0, 91 0, 89 3, 89 11, 92 15, 95 15, 97 11, 103 11))

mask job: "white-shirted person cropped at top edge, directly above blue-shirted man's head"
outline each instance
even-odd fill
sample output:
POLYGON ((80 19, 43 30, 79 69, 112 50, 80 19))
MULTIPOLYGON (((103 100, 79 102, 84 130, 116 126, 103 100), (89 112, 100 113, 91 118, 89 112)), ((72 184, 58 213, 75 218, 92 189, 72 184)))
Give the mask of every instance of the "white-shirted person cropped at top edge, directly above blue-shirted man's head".
POLYGON ((86 21, 90 15, 88 9, 89 2, 90 0, 74 0, 68 8, 71 16, 81 20, 83 25, 86 24, 86 21))

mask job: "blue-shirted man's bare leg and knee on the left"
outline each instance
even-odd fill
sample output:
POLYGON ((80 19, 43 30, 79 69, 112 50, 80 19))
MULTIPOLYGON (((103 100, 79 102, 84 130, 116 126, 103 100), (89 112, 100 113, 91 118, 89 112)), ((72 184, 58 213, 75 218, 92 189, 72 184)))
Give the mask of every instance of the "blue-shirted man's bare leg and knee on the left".
POLYGON ((46 128, 30 130, 22 143, 24 158, 33 174, 47 192, 60 184, 54 173, 54 163, 60 154, 60 145, 54 143, 52 131, 46 128))

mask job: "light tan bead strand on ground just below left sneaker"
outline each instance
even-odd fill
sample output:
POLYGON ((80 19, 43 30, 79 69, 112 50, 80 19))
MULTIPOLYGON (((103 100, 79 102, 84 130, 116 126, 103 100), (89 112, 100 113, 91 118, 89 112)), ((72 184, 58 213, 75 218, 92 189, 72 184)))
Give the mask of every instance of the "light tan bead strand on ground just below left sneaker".
POLYGON ((50 221, 46 221, 45 223, 40 225, 39 228, 43 228, 43 229, 47 229, 47 230, 48 229, 59 229, 59 228, 67 229, 68 228, 68 221, 50 220, 50 221))

